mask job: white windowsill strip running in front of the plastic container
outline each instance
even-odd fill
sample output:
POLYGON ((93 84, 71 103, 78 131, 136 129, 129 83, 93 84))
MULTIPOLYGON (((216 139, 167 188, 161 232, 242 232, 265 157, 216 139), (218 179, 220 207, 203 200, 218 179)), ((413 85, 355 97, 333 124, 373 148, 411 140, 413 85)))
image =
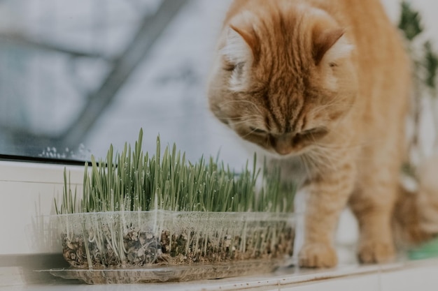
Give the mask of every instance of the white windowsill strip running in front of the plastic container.
POLYGON ((340 266, 332 270, 297 271, 287 269, 277 274, 227 278, 187 283, 141 285, 83 285, 76 281, 55 284, 0 287, 8 291, 212 291, 212 290, 294 290, 294 291, 432 291, 438 286, 438 260, 404 262, 381 266, 340 266))

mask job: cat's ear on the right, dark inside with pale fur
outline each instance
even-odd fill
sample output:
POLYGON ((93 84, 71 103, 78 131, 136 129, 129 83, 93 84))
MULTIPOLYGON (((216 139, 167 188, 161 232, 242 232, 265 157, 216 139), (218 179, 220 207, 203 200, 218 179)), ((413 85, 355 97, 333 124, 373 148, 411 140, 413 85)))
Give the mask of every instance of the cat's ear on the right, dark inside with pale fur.
POLYGON ((346 41, 345 29, 316 29, 313 32, 313 60, 318 66, 324 57, 336 61, 347 57, 353 45, 346 41))

